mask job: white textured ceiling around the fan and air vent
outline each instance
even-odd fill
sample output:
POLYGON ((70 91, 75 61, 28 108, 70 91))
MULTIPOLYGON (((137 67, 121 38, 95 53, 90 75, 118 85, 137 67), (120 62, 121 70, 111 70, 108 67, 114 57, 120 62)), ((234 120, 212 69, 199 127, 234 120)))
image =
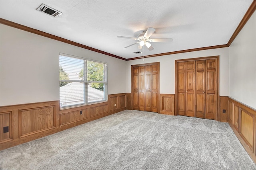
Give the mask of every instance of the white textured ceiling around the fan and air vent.
MULTIPOLYGON (((0 0, 0 18, 130 59, 141 57, 133 39, 148 27, 151 43, 144 55, 227 44, 252 0, 0 0), (36 11, 41 4, 63 14, 36 11)), ((142 48, 143 52, 143 48, 142 48)))

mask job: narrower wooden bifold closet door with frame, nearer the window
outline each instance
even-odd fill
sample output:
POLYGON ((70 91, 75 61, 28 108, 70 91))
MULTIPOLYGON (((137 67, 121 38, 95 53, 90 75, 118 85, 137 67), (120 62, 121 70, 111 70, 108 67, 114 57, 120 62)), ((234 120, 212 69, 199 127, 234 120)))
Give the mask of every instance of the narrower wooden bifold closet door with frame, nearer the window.
POLYGON ((159 63, 132 66, 132 109, 158 112, 159 63))

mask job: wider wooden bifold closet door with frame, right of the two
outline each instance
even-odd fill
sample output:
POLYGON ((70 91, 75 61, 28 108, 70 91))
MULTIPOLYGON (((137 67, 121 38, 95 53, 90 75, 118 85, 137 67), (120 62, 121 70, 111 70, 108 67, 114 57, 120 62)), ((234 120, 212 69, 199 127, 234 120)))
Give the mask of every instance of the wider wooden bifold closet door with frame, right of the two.
POLYGON ((176 61, 177 115, 217 119, 218 57, 176 61))

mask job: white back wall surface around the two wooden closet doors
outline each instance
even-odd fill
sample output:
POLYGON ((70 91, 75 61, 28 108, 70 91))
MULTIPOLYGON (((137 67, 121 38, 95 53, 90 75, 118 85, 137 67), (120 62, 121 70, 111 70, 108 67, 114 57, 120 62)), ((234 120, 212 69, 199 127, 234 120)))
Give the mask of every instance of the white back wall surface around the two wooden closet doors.
MULTIPOLYGON (((146 52, 146 50, 145 50, 146 52)), ((228 47, 127 61, 126 92, 131 92, 131 65, 160 62, 160 93, 175 94, 175 60, 220 56, 220 96, 228 96, 228 47)))

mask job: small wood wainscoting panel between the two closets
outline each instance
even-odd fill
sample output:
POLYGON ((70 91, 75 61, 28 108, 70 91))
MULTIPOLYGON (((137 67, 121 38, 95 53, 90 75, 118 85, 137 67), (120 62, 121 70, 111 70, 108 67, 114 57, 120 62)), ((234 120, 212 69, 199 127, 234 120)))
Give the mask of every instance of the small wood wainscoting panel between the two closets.
POLYGON ((174 94, 160 94, 160 114, 174 115, 174 94))

